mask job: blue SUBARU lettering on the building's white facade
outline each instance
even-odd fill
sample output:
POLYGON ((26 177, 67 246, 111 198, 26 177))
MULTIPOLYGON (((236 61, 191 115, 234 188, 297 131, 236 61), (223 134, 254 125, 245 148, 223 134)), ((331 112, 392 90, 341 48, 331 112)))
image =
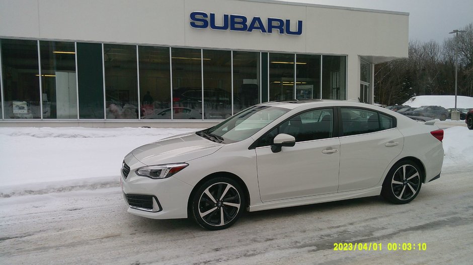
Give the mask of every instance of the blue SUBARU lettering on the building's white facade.
MULTIPOLYGON (((291 30, 291 21, 277 18, 268 18, 266 23, 260 17, 247 18, 242 15, 223 14, 223 25, 215 24, 215 13, 207 14, 205 12, 195 11, 190 15, 190 25, 194 29, 212 30, 230 30, 230 31, 260 31, 261 33, 286 34, 292 36, 300 36, 302 34, 302 21, 297 21, 295 31, 291 30)), ((292 26, 294 27, 294 26, 292 26)))

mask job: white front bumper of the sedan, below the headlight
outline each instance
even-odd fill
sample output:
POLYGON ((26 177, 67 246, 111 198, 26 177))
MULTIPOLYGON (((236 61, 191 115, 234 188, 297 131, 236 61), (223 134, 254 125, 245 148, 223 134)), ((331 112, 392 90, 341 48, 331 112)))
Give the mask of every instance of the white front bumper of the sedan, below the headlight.
POLYGON ((132 165, 126 179, 123 172, 120 177, 129 213, 153 219, 187 218, 187 203, 193 189, 191 185, 174 177, 150 179, 137 176, 135 170, 132 165), (147 198, 151 204, 144 207, 133 201, 134 199, 146 201, 147 198), (133 201, 130 203, 131 206, 128 200, 133 201))

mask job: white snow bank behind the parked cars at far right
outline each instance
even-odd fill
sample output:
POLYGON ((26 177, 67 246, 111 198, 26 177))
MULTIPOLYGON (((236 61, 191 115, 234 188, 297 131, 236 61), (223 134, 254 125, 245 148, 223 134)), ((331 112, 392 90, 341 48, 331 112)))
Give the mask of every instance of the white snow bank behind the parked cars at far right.
MULTIPOLYGON (((453 108, 455 107, 455 96, 415 96, 404 102, 403 105, 411 107, 434 105, 444 108, 453 108)), ((457 96, 456 107, 473 108, 473 97, 457 96)))

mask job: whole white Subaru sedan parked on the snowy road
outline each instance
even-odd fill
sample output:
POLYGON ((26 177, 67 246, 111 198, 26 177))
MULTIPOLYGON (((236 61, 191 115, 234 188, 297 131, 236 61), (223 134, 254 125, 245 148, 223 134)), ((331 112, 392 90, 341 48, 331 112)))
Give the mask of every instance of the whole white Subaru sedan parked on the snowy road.
POLYGON ((404 204, 440 177, 443 130, 385 108, 267 102, 129 153, 128 212, 218 230, 244 211, 381 195, 404 204))

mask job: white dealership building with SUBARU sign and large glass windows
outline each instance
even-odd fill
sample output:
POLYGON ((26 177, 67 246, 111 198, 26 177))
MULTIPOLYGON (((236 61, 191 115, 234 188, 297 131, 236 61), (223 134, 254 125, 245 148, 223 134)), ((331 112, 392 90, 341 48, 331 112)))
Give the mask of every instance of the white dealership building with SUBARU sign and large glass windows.
POLYGON ((0 126, 205 127, 291 99, 373 103, 409 14, 272 0, 0 0, 0 126))

